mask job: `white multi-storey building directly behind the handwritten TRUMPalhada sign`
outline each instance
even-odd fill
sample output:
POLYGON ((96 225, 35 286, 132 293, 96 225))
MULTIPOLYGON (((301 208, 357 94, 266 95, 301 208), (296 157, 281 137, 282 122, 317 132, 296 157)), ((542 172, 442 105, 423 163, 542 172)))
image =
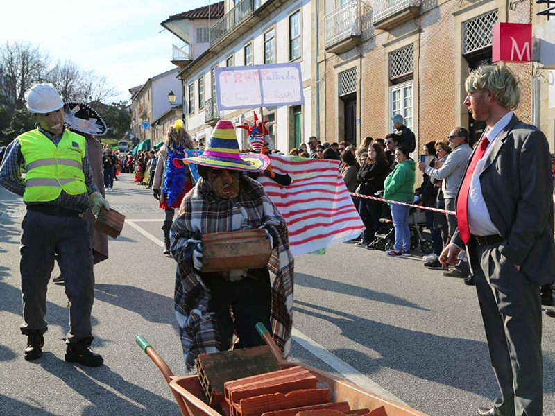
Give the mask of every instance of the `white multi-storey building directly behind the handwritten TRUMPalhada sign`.
MULTIPOLYGON (((225 0, 225 13, 210 27, 210 46, 189 63, 179 76, 189 133, 203 142, 219 119, 241 125, 253 119, 253 110, 220 112, 215 102, 215 67, 300 62, 305 104, 264 107, 272 125, 276 147, 284 152, 314 134, 312 96, 314 28, 310 0, 225 0)), ((165 22, 164 22, 165 23, 165 22)), ((164 27, 169 28, 167 25, 164 27)), ((237 131, 246 147, 246 132, 237 131)))

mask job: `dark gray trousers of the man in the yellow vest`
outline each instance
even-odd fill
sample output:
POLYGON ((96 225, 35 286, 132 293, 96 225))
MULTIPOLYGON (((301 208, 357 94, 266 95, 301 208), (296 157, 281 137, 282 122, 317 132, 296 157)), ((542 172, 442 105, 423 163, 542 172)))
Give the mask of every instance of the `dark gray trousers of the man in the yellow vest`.
POLYGON ((90 342, 94 272, 87 221, 37 211, 27 211, 22 222, 22 333, 46 332, 46 288, 56 253, 65 293, 71 302, 66 343, 90 342))

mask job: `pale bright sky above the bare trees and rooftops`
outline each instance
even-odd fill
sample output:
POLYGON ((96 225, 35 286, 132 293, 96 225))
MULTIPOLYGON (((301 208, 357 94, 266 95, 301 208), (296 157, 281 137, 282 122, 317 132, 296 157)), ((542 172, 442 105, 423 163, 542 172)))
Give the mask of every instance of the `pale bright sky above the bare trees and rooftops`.
POLYGON ((0 42, 27 40, 49 51, 54 61, 71 60, 83 70, 104 73, 125 100, 130 98, 130 87, 174 68, 172 35, 162 31, 160 22, 207 4, 207 0, 5 1, 0 42))

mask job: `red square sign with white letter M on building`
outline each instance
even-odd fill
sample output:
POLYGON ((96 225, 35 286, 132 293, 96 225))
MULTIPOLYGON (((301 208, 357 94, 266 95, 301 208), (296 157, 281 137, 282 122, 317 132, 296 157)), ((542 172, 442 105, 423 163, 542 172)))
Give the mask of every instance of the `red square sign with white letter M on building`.
POLYGON ((492 62, 530 62, 532 60, 532 25, 494 24, 491 60, 492 62))

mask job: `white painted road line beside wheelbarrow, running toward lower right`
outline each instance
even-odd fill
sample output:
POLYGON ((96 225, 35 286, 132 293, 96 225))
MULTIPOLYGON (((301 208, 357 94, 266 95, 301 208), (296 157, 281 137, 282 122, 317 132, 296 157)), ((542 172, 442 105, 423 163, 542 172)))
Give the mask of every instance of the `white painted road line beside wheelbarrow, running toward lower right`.
POLYGON ((393 401, 396 401, 397 403, 407 406, 407 404, 399 399, 399 397, 396 397, 395 395, 393 395, 393 393, 384 389, 381 385, 375 383, 375 381, 368 379, 368 377, 359 372, 359 370, 355 370, 355 368, 348 365, 348 363, 345 363, 345 361, 341 360, 341 358, 339 358, 335 354, 327 351, 327 349, 322 347, 322 345, 316 343, 316 341, 312 340, 301 331, 298 331, 298 329, 292 329, 291 338, 293 338, 296 343, 300 344, 301 347, 307 349, 317 358, 320 358, 324 363, 336 370, 336 372, 339 372, 339 374, 344 376, 345 379, 348 379, 348 381, 355 383, 360 388, 364 388, 364 390, 368 390, 377 395, 386 397, 387 399, 391 399, 393 401))

